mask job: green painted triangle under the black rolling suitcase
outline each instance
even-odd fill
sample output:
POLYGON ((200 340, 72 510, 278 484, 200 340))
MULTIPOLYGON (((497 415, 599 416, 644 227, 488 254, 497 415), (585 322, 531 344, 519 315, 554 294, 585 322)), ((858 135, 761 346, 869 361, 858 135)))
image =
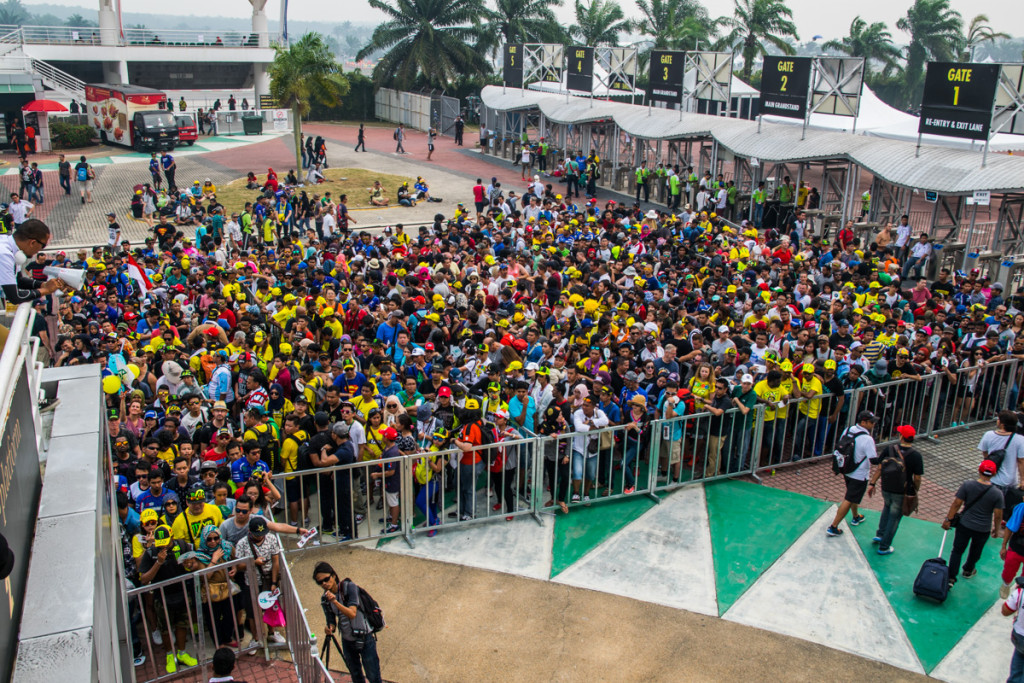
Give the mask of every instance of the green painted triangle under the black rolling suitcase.
MULTIPOLYGON (((892 555, 879 555, 871 543, 879 526, 880 513, 861 508, 867 520, 853 527, 854 538, 860 545, 867 563, 874 570, 889 604, 903 625, 910 644, 927 673, 931 673, 942 658, 955 647, 961 638, 982 617, 998 597, 1002 580, 1002 562, 999 561, 998 541, 985 544, 978 562, 978 574, 965 580, 961 577, 943 603, 919 598, 913 594, 916 579, 925 560, 937 557, 942 541, 942 529, 935 522, 914 517, 904 517, 893 539, 892 555)), ((849 519, 849 517, 847 517, 849 519)), ((943 556, 949 559, 953 531, 946 538, 943 556)), ((965 553, 966 557, 966 553, 965 553)))

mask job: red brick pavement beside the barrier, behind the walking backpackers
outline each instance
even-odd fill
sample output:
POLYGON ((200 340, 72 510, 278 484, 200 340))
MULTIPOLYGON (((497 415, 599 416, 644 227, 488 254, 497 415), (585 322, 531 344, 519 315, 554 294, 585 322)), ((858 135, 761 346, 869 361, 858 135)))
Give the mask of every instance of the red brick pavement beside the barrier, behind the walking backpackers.
MULTIPOLYGON (((774 472, 772 474, 771 469, 758 472, 764 485, 804 494, 833 503, 842 501, 846 493, 843 477, 831 471, 830 458, 806 464, 778 467, 774 472)), ((952 503, 955 493, 955 489, 949 489, 931 481, 927 476, 922 478, 921 493, 919 494, 920 506, 914 516, 929 521, 941 522, 949 512, 949 504, 952 503)), ((868 510, 881 510, 882 495, 876 494, 872 498, 865 496, 861 507, 868 510)))

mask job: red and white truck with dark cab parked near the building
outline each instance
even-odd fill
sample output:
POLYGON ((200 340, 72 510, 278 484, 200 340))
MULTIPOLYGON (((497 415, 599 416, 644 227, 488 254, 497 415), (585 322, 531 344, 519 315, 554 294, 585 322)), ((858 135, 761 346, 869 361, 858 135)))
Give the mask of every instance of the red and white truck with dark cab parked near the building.
POLYGON ((104 144, 121 144, 136 152, 173 150, 178 122, 167 109, 167 94, 136 85, 85 86, 89 123, 104 144))

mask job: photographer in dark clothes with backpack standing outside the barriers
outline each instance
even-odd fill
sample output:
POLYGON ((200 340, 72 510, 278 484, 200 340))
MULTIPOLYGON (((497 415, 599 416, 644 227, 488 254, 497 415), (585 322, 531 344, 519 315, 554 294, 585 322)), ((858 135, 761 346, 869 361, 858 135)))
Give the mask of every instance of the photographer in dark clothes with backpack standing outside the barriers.
POLYGON ((338 572, 327 562, 317 562, 313 567, 313 581, 324 589, 321 606, 327 618, 327 638, 333 638, 334 632, 341 630, 341 655, 345 658, 352 683, 380 683, 377 637, 359 605, 359 587, 351 581, 339 579, 338 572))

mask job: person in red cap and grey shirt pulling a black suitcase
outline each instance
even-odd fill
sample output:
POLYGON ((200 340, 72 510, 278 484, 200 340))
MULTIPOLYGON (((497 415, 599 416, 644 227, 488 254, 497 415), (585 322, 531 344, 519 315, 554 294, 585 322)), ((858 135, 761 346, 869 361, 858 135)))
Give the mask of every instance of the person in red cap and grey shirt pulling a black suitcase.
POLYGON ((942 522, 942 528, 955 528, 953 549, 949 553, 949 587, 956 583, 964 551, 968 551, 964 562, 964 578, 971 579, 978 569, 981 551, 989 535, 999 536, 1002 526, 1002 492, 992 484, 992 477, 998 470, 991 460, 981 461, 978 478, 968 479, 956 489, 949 512, 942 522), (968 547, 970 546, 970 550, 968 547))

